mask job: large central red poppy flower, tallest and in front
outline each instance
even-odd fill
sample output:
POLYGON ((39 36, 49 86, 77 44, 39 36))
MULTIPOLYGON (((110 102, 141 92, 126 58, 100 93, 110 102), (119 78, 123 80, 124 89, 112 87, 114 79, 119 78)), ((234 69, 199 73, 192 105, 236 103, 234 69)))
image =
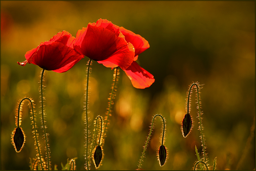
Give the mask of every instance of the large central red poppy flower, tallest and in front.
POLYGON ((126 69, 134 59, 135 49, 125 41, 117 25, 99 19, 78 30, 74 49, 105 67, 126 69))

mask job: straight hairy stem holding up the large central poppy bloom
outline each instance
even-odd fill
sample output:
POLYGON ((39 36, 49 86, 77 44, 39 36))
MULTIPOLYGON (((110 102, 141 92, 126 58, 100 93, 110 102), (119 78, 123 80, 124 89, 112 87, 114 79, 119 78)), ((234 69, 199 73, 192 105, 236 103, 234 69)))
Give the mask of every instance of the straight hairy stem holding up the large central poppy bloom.
POLYGON ((85 113, 86 113, 86 169, 90 170, 89 167, 89 159, 88 159, 88 84, 89 84, 89 74, 90 74, 90 65, 91 65, 91 59, 88 62, 88 68, 87 68, 87 83, 86 83, 86 102, 85 102, 85 113))

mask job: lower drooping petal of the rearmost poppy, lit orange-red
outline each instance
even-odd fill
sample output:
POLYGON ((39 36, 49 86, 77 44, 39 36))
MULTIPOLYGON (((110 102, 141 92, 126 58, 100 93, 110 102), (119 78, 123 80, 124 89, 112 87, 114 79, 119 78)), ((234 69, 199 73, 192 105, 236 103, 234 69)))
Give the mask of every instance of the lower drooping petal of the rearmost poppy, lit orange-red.
POLYGON ((133 61, 131 66, 124 70, 132 82, 133 87, 144 89, 150 87, 154 82, 154 76, 133 61))

